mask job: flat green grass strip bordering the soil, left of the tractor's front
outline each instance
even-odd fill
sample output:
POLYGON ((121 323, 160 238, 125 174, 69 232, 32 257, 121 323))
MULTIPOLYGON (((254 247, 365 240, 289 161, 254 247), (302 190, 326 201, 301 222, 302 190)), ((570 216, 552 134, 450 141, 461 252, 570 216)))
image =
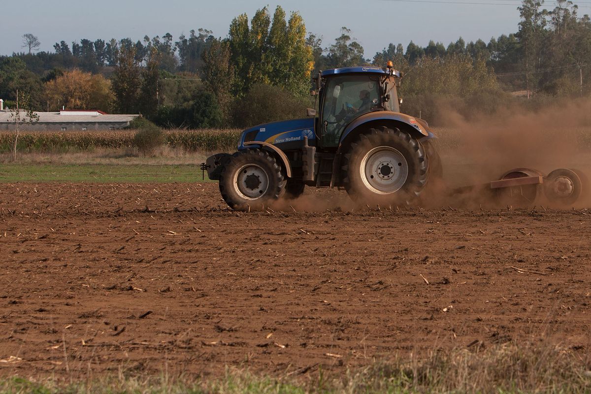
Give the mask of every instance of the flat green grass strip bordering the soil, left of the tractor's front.
POLYGON ((207 182, 197 165, 0 164, 0 183, 191 183, 207 182))

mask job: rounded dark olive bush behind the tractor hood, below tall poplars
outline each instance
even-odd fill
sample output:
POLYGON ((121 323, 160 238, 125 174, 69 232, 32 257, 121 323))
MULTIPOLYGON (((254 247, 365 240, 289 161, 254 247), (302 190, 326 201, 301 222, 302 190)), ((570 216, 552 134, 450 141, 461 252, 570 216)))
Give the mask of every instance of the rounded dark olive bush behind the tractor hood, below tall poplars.
POLYGON ((277 86, 255 85, 233 103, 232 119, 237 127, 285 121, 306 116, 309 97, 301 97, 277 86))

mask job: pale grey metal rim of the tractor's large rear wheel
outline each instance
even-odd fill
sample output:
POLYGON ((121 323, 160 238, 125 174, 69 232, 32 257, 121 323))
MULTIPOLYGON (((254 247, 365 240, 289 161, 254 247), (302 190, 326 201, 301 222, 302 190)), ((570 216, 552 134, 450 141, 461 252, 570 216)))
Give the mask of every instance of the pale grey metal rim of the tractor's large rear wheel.
POLYGON ((400 190, 408 178, 408 162, 395 148, 378 146, 363 157, 360 166, 365 186, 378 194, 400 190))

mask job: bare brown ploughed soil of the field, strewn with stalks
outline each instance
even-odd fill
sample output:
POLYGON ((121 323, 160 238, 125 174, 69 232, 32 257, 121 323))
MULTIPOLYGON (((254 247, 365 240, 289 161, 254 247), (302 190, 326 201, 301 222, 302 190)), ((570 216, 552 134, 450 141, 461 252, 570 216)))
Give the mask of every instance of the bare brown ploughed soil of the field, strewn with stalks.
POLYGON ((216 184, 3 184, 0 374, 284 376, 506 341, 590 349, 589 211, 289 205, 235 213, 216 184))

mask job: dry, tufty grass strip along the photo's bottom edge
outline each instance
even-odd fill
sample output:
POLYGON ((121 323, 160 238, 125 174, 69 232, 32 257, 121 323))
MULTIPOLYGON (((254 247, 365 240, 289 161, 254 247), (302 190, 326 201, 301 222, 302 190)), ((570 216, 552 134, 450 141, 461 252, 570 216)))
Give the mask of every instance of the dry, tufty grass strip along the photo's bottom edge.
POLYGON ((588 393, 590 362, 588 351, 509 343, 488 350, 433 351, 426 359, 374 362, 356 371, 320 369, 300 377, 231 369, 212 380, 119 376, 60 385, 13 377, 0 379, 0 393, 588 393))

